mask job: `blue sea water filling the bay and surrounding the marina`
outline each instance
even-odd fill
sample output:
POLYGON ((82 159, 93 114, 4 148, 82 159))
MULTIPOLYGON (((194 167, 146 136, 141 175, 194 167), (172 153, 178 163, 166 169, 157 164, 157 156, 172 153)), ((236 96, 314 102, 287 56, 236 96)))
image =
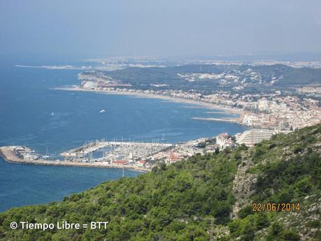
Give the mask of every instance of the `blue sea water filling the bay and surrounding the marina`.
MULTIPOLYGON (((15 63, 20 64, 20 63, 15 63)), ((208 114, 206 108, 155 98, 136 98, 52 88, 78 85, 78 70, 0 68, 0 146, 26 145, 51 156, 86 141, 152 141, 163 133, 169 143, 219 133, 244 131, 238 124, 202 122, 191 117, 229 117, 208 114), (104 114, 99 110, 106 110, 104 114)), ((125 170, 126 177, 140 175, 125 170)), ((33 166, 7 163, 0 157, 0 212, 10 207, 62 200, 71 193, 90 189, 122 176, 113 168, 33 166)))

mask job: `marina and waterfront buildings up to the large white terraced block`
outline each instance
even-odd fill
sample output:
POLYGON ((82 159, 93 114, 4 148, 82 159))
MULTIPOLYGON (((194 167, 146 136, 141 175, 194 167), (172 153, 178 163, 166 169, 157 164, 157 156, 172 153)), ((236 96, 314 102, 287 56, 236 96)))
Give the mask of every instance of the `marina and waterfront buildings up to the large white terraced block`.
POLYGON ((37 154, 24 146, 0 147, 7 161, 34 163, 55 166, 85 166, 102 168, 131 168, 149 171, 161 164, 169 165, 188 159, 195 154, 220 152, 238 145, 253 146, 262 140, 268 140, 278 131, 252 129, 235 136, 221 133, 212 138, 199 138, 185 143, 154 143, 94 140, 85 145, 62 152, 62 159, 54 159, 48 154, 37 154))

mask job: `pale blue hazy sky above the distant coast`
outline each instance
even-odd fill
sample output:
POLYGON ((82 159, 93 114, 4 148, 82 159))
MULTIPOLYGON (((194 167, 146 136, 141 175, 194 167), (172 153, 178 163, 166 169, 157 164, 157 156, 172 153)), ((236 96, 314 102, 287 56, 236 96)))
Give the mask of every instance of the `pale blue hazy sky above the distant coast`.
POLYGON ((4 56, 321 52, 320 0, 0 1, 4 56))

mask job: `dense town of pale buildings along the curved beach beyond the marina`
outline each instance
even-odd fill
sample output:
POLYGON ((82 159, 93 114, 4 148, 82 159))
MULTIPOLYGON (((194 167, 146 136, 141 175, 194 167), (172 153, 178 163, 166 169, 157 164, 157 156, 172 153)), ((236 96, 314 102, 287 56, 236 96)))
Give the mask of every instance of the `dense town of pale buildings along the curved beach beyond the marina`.
MULTIPOLYGON (((246 76, 250 76, 249 81, 257 81, 257 85, 269 86, 278 79, 273 78, 271 82, 264 82, 257 73, 250 69, 245 71, 246 76)), ((211 94, 202 94, 195 90, 183 91, 181 89, 134 89, 130 84, 112 80, 106 75, 95 72, 89 75, 80 74, 82 80, 80 89, 96 90, 100 92, 117 92, 119 94, 144 94, 146 96, 168 96, 183 100, 192 100, 197 103, 208 103, 217 105, 218 108, 229 108, 240 113, 238 123, 255 128, 268 129, 301 129, 305 126, 318 124, 321 121, 321 108, 318 98, 321 97, 320 87, 301 87, 289 90, 276 90, 275 92, 262 93, 238 93, 238 90, 248 86, 248 79, 241 80, 239 75, 227 74, 199 74, 190 73, 180 75, 187 82, 198 81, 204 78, 216 78, 220 82, 240 82, 231 90, 214 90, 211 94)), ((242 76, 242 75, 241 75, 242 76)), ((164 85, 153 85, 153 87, 164 87, 164 85)), ((76 88, 75 88, 76 89, 76 88)), ((211 120, 211 119, 209 119, 211 120)))

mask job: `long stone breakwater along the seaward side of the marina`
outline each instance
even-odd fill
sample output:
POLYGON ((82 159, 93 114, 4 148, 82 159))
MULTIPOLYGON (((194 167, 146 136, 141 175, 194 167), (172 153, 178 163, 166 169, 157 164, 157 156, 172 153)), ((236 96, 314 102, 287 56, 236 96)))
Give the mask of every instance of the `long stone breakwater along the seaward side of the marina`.
POLYGON ((129 166, 129 165, 110 165, 104 163, 79 163, 73 161, 49 161, 49 160, 26 160, 20 159, 13 151, 10 150, 8 146, 0 147, 0 156, 3 157, 3 160, 8 163, 20 163, 27 165, 43 165, 43 166, 73 166, 73 167, 83 167, 83 168, 125 168, 130 170, 136 170, 142 173, 150 172, 150 169, 138 167, 138 166, 129 166))

